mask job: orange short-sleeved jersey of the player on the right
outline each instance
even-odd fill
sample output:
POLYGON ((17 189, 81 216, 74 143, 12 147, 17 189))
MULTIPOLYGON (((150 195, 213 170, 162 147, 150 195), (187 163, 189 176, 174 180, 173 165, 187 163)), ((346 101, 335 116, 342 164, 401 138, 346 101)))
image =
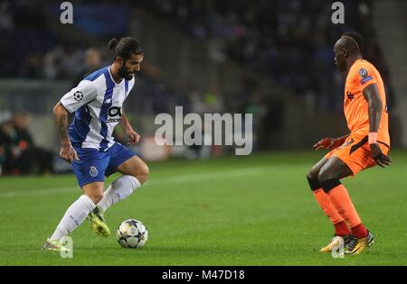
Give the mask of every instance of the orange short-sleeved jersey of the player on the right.
POLYGON ((376 84, 382 100, 383 110, 380 119, 377 141, 390 147, 388 130, 388 114, 384 85, 379 71, 373 64, 366 60, 356 60, 346 77, 344 111, 347 126, 351 134, 367 135, 369 133, 368 102, 362 91, 364 87, 376 84))

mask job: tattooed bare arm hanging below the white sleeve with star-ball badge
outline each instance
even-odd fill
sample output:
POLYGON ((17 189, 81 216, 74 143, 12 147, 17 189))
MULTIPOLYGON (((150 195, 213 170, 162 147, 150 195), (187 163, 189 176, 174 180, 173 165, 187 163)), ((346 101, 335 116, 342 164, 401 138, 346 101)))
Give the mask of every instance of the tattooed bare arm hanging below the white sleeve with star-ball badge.
POLYGON ((61 140, 60 157, 69 163, 71 163, 73 159, 79 160, 78 154, 72 148, 70 137, 68 135, 68 111, 61 102, 58 102, 58 104, 53 107, 53 115, 58 136, 60 136, 61 140))

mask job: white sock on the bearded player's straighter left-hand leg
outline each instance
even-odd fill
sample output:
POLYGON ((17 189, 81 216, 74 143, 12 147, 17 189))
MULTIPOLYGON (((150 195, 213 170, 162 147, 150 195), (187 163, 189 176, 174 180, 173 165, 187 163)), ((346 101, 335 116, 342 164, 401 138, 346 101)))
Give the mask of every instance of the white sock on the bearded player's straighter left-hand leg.
POLYGON ((66 210, 60 224, 58 224, 55 232, 52 234, 50 241, 59 241, 62 239, 62 237, 75 230, 95 207, 96 205, 93 203, 90 197, 85 195, 80 196, 66 210))

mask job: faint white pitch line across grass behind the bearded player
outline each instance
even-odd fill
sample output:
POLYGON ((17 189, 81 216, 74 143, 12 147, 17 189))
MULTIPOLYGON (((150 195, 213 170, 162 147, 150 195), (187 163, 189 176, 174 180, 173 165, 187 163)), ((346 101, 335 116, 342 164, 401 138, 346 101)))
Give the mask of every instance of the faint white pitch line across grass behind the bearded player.
MULTIPOLYGON (((150 186, 161 186, 168 184, 179 184, 185 182, 194 182, 194 181, 203 181, 203 180, 212 180, 212 179, 232 179, 236 177, 251 176, 264 174, 269 172, 274 167, 256 167, 248 169, 232 169, 216 172, 206 172, 202 174, 188 174, 184 176, 176 177, 167 177, 167 178, 155 178, 148 180, 143 187, 150 186)), ((277 171, 275 171, 277 172, 277 171)), ((42 189, 33 189, 33 190, 24 190, 24 191, 9 191, 0 193, 0 198, 14 198, 14 197, 32 197, 32 196, 43 196, 43 195, 53 195, 53 194, 65 194, 78 191, 79 187, 63 187, 63 188, 42 188, 42 189)))

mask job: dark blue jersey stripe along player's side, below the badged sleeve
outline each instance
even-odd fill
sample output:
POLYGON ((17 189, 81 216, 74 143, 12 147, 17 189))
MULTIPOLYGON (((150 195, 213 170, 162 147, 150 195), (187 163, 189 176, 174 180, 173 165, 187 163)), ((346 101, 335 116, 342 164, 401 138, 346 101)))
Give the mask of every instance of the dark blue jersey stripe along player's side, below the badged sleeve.
POLYGON ((81 106, 75 112, 75 117, 69 128, 71 143, 75 147, 82 147, 82 142, 90 131, 90 111, 87 105, 81 106))

